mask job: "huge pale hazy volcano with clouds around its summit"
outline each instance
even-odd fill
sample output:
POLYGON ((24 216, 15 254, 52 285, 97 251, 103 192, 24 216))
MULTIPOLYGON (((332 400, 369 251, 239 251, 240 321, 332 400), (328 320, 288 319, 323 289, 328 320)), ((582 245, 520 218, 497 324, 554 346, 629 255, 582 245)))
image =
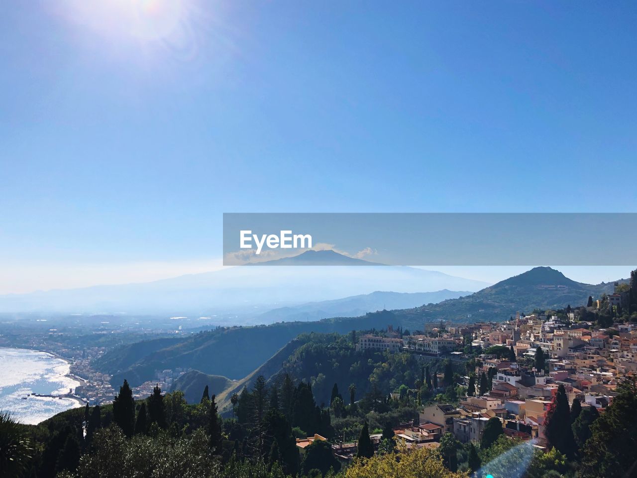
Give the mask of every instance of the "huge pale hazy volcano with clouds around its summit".
MULTIPOLYGON (((304 252, 314 253, 315 251, 304 252)), ((139 284, 94 286, 0 296, 1 312, 120 313, 213 317, 215 324, 254 323, 254 317, 310 301, 390 290, 420 293, 476 291, 485 282, 404 266, 336 265, 362 261, 318 251, 329 266, 237 266, 139 284), (222 315, 231 315, 230 319, 222 315), (216 318, 215 318, 216 317, 216 318)), ((317 252, 317 254, 318 254, 317 252)), ((306 261, 304 254, 290 261, 306 261)), ((281 259, 283 260, 283 259, 281 259)), ((287 259, 286 259, 287 260, 287 259)), ((365 263, 366 261, 362 261, 365 263)))

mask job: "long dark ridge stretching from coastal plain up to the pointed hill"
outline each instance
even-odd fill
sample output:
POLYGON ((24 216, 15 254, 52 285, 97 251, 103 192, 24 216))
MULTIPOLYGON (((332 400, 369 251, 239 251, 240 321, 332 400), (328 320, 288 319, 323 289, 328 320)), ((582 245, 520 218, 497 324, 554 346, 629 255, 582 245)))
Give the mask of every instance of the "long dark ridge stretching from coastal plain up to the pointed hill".
MULTIPOLYGON (((366 268, 367 269, 367 268, 366 268)), ((625 282, 625 280, 623 281, 625 282)), ((157 339, 123 345, 96 361, 97 370, 136 386, 152 380, 155 370, 186 367, 203 373, 242 379, 301 333, 348 333, 387 325, 422 330, 426 322, 503 321, 518 310, 585 305, 589 295, 612 292, 612 284, 582 284, 552 268, 534 268, 469 296, 421 307, 381 310, 361 317, 283 322, 270 326, 233 327, 200 332, 180 339, 157 339), (176 340, 176 342, 165 342, 176 340), (143 352, 140 352, 143 350, 143 352), (229 359, 232 358, 232 359, 229 359)))

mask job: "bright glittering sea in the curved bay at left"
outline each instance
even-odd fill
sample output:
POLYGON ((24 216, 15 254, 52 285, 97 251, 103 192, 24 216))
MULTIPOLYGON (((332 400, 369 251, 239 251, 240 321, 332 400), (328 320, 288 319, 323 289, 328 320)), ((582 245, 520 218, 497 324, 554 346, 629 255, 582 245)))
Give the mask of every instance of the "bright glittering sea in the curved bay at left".
POLYGON ((47 352, 0 347, 0 412, 25 424, 37 424, 82 407, 73 398, 39 397, 75 391, 78 380, 68 377, 68 362, 47 352))

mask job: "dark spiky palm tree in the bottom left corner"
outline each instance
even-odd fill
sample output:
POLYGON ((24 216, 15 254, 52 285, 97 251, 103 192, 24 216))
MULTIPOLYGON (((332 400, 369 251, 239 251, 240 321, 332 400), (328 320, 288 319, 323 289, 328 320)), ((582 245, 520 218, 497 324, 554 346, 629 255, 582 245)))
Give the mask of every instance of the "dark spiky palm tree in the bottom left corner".
POLYGON ((0 470, 3 477, 13 478, 24 474, 31 461, 31 440, 8 413, 0 412, 0 470))

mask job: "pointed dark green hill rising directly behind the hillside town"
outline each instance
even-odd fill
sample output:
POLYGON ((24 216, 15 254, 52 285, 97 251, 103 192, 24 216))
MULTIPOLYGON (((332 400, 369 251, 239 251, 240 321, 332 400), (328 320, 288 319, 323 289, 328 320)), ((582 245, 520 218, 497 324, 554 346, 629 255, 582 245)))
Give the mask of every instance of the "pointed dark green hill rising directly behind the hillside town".
POLYGON ((613 293, 612 282, 583 284, 550 267, 536 267, 468 296, 396 311, 396 322, 404 327, 420 329, 425 322, 441 319, 452 322, 502 321, 518 311, 529 313, 534 308, 585 305, 589 296, 599 298, 608 293, 613 293))

